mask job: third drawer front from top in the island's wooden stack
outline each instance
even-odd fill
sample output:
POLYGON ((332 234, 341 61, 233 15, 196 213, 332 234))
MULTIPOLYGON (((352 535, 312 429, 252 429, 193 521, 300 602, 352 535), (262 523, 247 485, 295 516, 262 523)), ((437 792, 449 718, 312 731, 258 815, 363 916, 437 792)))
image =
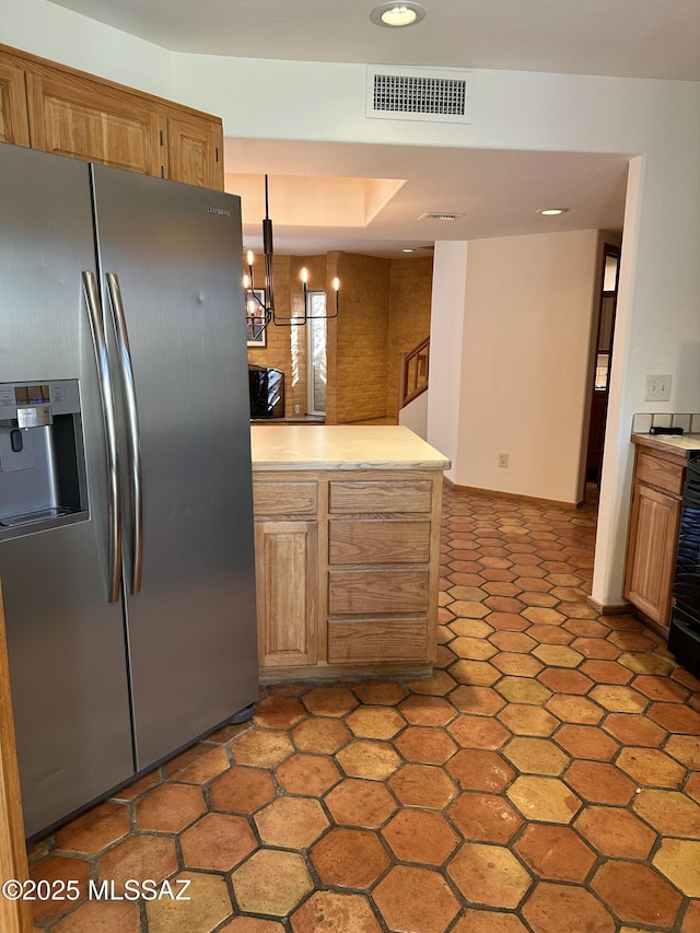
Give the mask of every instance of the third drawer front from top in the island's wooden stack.
POLYGON ((427 613, 428 570, 329 570, 328 613, 369 616, 427 613))

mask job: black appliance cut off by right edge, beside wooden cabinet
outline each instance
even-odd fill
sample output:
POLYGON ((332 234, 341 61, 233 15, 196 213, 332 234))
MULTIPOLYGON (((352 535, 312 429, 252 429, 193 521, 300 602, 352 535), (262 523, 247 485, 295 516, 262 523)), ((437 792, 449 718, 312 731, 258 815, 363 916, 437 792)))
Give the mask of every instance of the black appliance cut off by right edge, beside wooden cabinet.
POLYGON ((700 451, 686 468, 673 595, 668 649, 700 676, 700 451))

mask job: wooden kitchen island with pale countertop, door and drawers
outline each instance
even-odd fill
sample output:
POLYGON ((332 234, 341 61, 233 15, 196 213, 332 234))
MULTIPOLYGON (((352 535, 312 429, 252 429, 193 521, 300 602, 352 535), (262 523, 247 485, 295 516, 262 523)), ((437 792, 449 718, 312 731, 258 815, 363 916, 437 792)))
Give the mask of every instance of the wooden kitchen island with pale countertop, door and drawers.
POLYGON ((261 683, 429 676, 448 459, 402 427, 250 434, 261 683))

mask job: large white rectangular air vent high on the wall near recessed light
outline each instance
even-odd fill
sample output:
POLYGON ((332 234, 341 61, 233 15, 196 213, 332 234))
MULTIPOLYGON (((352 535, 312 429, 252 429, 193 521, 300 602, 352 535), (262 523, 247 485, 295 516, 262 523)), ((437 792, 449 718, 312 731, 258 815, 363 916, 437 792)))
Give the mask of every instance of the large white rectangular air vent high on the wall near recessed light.
POLYGON ((366 116, 471 123, 471 72, 451 68, 368 68, 366 116))

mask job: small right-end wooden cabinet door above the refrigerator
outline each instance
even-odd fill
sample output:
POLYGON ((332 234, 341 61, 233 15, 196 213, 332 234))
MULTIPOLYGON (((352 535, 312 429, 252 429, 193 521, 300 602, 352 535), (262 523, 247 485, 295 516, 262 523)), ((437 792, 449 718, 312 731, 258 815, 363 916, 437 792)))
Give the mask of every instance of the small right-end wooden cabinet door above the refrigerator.
POLYGON ((206 118, 167 120, 167 177, 223 191, 223 131, 206 118))

